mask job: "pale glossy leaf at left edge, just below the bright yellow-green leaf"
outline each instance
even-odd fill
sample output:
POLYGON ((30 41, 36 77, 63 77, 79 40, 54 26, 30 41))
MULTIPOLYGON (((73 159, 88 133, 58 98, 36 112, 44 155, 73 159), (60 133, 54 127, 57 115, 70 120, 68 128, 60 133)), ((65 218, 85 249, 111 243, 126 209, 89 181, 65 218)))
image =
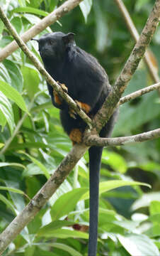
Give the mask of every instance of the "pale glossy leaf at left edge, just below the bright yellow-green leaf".
POLYGON ((1 114, 1 120, 2 120, 1 125, 5 124, 4 118, 6 118, 6 122, 8 122, 8 127, 12 134, 14 129, 13 110, 11 107, 11 103, 7 100, 6 96, 1 91, 0 91, 0 114, 1 114))

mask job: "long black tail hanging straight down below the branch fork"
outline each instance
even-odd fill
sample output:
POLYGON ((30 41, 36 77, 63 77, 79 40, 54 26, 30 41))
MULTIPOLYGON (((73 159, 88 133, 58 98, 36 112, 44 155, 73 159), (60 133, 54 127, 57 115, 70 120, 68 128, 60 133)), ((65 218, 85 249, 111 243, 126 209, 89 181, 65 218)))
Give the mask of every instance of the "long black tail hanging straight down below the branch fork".
POLYGON ((96 256, 98 235, 98 194, 101 156, 103 147, 91 146, 89 149, 89 242, 88 256, 96 256))

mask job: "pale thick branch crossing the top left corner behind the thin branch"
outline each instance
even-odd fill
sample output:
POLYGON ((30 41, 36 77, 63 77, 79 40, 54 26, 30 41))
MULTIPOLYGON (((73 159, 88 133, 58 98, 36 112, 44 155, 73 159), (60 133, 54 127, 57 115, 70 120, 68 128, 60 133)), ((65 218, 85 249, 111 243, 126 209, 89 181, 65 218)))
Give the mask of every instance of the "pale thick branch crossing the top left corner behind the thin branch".
MULTIPOLYGON (((55 9, 55 11, 52 11, 51 14, 49 14, 45 18, 42 18, 42 20, 38 24, 23 33, 23 35, 21 36, 23 42, 28 42, 31 38, 38 35, 38 33, 42 32, 45 28, 47 28, 47 26, 55 23, 55 21, 64 16, 64 14, 67 14, 69 11, 74 9, 74 7, 78 6, 81 1, 82 0, 65 1, 64 4, 55 9)), ((11 55, 11 53, 13 53, 13 51, 15 51, 17 48, 18 44, 16 43, 16 41, 9 43, 8 46, 0 51, 0 62, 7 58, 9 55, 11 55)))

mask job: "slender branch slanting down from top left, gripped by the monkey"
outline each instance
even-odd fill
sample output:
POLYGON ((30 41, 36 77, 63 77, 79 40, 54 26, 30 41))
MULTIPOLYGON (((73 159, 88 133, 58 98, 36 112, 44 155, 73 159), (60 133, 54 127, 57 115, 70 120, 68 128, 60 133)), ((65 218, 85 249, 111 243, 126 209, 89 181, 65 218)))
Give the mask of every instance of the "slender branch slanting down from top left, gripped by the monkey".
MULTIPOLYGON (((74 0, 73 0, 74 1, 74 0)), ((28 47, 25 45, 25 43, 23 42, 23 40, 18 36, 18 33, 16 32, 16 30, 13 28, 13 26, 11 25, 10 21, 8 21, 8 18, 6 17, 6 15, 4 14, 4 11, 1 9, 0 7, 0 17, 1 20, 4 22, 6 28, 8 28, 8 31, 11 33, 11 35, 13 36, 13 38, 15 38, 16 42, 18 43, 18 46, 23 50, 23 52, 25 53, 25 55, 28 56, 28 58, 33 62, 33 64, 35 65, 35 67, 39 70, 39 72, 45 76, 45 79, 47 80, 47 82, 52 85, 52 87, 54 88, 54 90, 61 95, 61 97, 69 104, 69 107, 72 107, 72 109, 79 114, 79 116, 81 117, 81 119, 84 120, 84 122, 86 122, 88 124, 88 126, 91 128, 92 127, 92 121, 91 119, 86 115, 86 113, 84 113, 83 110, 81 110, 77 105, 76 102, 74 102, 74 100, 72 100, 71 97, 69 97, 69 95, 67 95, 66 92, 64 92, 62 90, 62 88, 60 87, 60 85, 51 77, 50 74, 47 73, 47 71, 45 70, 45 68, 43 68, 42 64, 40 63, 40 61, 38 60, 38 58, 35 57, 35 55, 33 55, 33 53, 31 53, 31 51, 28 49, 28 47)))

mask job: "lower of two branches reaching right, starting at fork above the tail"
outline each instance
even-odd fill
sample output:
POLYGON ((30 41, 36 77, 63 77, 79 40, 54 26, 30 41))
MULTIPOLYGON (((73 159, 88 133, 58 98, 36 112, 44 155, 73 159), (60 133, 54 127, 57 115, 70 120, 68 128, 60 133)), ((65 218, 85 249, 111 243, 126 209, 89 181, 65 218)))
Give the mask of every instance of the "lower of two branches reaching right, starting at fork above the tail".
POLYGON ((125 144, 131 144, 135 142, 146 142, 147 140, 156 139, 160 137, 160 128, 154 129, 150 132, 144 132, 127 137, 115 137, 115 138, 101 138, 97 135, 91 135, 86 137, 85 144, 89 146, 122 146, 125 144))

